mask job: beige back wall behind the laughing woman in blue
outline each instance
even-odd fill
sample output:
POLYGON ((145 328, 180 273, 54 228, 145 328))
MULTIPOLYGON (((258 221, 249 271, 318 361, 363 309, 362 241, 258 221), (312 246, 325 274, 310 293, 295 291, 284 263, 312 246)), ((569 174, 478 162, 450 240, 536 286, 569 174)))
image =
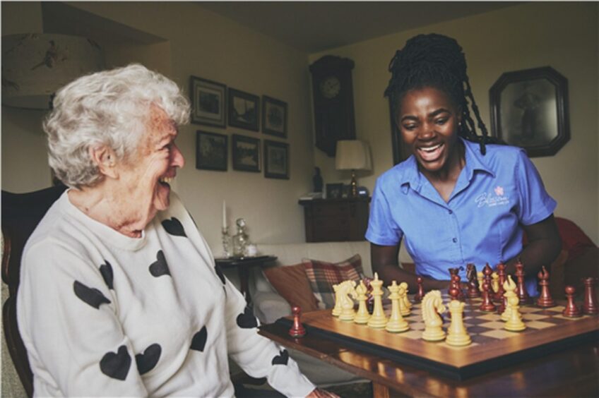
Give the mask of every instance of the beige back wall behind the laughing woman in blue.
MULTIPOLYGON (((531 3, 470 18, 430 25, 327 52, 355 61, 353 71, 356 131, 372 146, 374 171, 359 183, 371 191, 376 176, 393 165, 389 106, 383 92, 396 49, 420 33, 455 37, 468 61, 468 76, 482 118, 490 128, 489 94, 507 71, 552 66, 569 83, 571 139, 557 155, 535 157, 547 191, 557 200, 555 214, 566 217, 599 242, 598 4, 531 3)), ((333 159, 315 150, 326 183, 347 181, 333 159)))

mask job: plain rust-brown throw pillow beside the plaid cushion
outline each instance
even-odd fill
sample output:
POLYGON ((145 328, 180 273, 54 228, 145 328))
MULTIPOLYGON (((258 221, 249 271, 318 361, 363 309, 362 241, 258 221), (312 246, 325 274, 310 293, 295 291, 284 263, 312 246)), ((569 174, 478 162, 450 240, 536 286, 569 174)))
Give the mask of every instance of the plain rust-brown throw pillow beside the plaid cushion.
POLYGON ((290 306, 299 306, 304 313, 319 309, 303 264, 270 267, 265 268, 263 272, 268 282, 271 282, 290 306))

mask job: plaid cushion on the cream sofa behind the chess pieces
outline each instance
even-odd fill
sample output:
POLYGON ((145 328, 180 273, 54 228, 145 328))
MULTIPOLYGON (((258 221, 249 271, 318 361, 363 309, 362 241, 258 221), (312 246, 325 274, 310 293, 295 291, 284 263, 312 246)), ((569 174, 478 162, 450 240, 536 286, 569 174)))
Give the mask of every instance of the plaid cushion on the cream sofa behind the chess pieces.
POLYGON ((335 306, 335 291, 333 284, 340 284, 351 279, 360 282, 364 276, 362 271, 362 258, 359 254, 348 258, 340 263, 326 263, 319 260, 304 259, 306 276, 310 281, 310 287, 314 296, 319 300, 321 308, 333 308, 335 306))

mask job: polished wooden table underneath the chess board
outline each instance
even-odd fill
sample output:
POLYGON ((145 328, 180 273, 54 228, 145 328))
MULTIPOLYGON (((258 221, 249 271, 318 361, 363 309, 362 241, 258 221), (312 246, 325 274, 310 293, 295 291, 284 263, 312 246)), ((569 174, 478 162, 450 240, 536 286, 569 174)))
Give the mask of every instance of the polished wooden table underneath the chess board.
POLYGON ((599 341, 523 361, 465 381, 441 378, 333 340, 307 334, 294 339, 288 327, 263 325, 260 334, 291 349, 372 380, 374 397, 598 397, 599 341))

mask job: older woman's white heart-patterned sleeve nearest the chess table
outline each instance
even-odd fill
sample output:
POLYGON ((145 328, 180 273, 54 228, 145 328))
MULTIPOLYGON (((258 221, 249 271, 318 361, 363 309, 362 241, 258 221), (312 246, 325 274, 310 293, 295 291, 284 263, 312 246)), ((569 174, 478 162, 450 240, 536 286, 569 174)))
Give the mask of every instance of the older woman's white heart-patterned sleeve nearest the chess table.
POLYGON ((266 377, 268 384, 287 397, 305 397, 316 386, 299 371, 289 352, 258 334, 259 321, 245 299, 228 279, 225 324, 231 358, 254 378, 266 377))

